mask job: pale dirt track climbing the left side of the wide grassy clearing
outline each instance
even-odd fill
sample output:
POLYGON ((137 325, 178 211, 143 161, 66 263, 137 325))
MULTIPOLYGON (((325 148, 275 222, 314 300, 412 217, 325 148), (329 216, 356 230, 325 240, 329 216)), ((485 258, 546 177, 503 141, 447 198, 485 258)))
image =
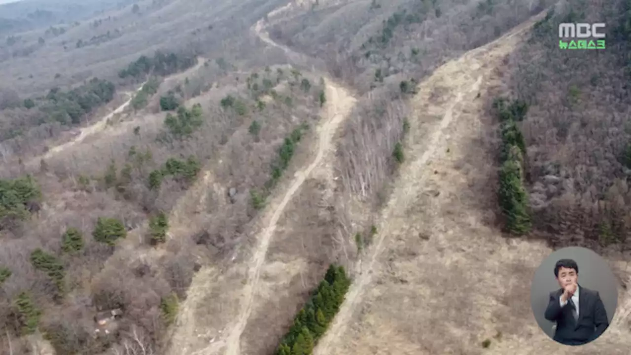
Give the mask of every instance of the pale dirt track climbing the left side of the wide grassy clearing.
MULTIPOLYGON (((382 212, 378 225, 379 237, 372 250, 368 251, 368 259, 358 265, 358 270, 355 270, 357 277, 351 284, 346 300, 331 327, 315 347, 315 355, 365 353, 360 348, 344 344, 349 340, 345 333, 350 323, 354 323, 351 319, 357 313, 358 306, 363 303, 367 286, 377 274, 384 249, 392 242, 391 239, 394 236, 405 233, 401 229, 409 226, 411 219, 420 217, 409 215, 409 210, 428 188, 428 179, 434 178, 439 171, 432 166, 435 165, 433 160, 444 155, 451 145, 459 144, 456 141, 449 142, 450 138, 451 140, 456 138, 452 126, 461 124, 455 122, 458 118, 464 119, 461 112, 469 111, 466 107, 471 105, 471 102, 476 102, 476 95, 480 92, 483 82, 488 80, 488 76, 500 65, 504 56, 513 51, 517 42, 522 39, 533 23, 534 19, 520 25, 495 42, 444 64, 418 86, 418 94, 413 99, 414 118, 411 119, 410 136, 407 138, 406 154, 410 155, 407 157, 408 162, 401 166, 400 177, 387 207, 382 212), (438 121, 434 118, 437 116, 440 117, 438 121)), ((478 99, 477 102, 481 100, 478 99)), ((427 208, 431 207, 427 206, 427 208)), ((435 250, 433 253, 440 254, 440 251, 435 250)), ((422 293, 423 291, 418 291, 418 297, 422 298, 422 293)), ((423 322, 423 320, 418 320, 418 322, 423 322)), ((385 343, 386 339, 382 339, 382 342, 385 343)), ((363 349, 363 351, 367 350, 363 349)), ((399 353, 394 351, 394 347, 382 347, 379 353, 386 350, 392 351, 393 354, 399 353)), ((413 352, 405 353, 426 352, 417 348, 413 352)))

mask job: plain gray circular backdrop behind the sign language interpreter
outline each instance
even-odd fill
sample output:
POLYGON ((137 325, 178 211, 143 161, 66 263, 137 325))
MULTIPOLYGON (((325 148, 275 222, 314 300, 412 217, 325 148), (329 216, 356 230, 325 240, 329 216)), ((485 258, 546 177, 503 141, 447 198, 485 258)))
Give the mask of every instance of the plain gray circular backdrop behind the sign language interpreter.
POLYGON ((611 272, 608 263, 594 251, 579 246, 570 246, 548 255, 534 273, 530 288, 530 302, 539 327, 550 338, 554 337, 553 325, 555 323, 546 320, 543 313, 548 306, 550 292, 560 288, 554 276, 554 265, 560 259, 573 259, 579 265, 579 285, 599 292, 611 324, 618 306, 618 280, 611 272))

